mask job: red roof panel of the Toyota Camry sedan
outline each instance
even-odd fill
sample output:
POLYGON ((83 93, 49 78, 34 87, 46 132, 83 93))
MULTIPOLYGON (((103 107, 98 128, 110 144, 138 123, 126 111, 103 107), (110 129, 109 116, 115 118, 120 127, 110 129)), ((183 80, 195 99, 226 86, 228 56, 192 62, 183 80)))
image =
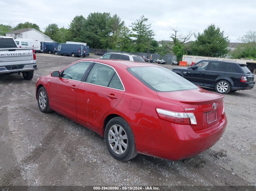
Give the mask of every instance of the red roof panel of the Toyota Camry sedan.
POLYGON ((147 64, 146 62, 134 62, 134 61, 129 61, 129 60, 114 60, 114 59, 82 59, 78 60, 78 62, 81 61, 91 61, 91 62, 100 62, 103 64, 108 64, 111 66, 117 66, 117 65, 123 65, 126 66, 127 68, 129 67, 141 67, 141 66, 151 66, 151 67, 161 67, 153 64, 147 64))

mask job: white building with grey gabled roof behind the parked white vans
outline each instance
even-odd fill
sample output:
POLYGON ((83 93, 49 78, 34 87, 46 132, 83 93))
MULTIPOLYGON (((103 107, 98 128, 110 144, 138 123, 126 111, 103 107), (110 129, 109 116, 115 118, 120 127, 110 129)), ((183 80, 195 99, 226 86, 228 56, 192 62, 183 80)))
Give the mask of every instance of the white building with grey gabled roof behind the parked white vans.
POLYGON ((24 28, 24 29, 13 30, 6 33, 6 36, 14 37, 14 38, 24 38, 24 39, 33 39, 33 40, 39 40, 39 41, 55 42, 50 37, 48 37, 44 33, 34 28, 24 28))

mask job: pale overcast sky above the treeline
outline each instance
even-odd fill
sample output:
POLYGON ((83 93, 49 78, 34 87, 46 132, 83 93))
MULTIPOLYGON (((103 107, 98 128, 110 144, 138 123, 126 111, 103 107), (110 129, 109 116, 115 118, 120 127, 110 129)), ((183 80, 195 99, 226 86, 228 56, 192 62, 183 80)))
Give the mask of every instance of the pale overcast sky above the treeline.
POLYGON ((170 40, 171 27, 181 33, 198 30, 202 33, 211 23, 224 30, 231 42, 249 30, 256 30, 255 0, 0 0, 0 24, 16 26, 26 21, 37 24, 42 31, 56 23, 68 28, 76 15, 85 18, 91 12, 117 14, 126 26, 144 15, 155 31, 155 40, 170 40))

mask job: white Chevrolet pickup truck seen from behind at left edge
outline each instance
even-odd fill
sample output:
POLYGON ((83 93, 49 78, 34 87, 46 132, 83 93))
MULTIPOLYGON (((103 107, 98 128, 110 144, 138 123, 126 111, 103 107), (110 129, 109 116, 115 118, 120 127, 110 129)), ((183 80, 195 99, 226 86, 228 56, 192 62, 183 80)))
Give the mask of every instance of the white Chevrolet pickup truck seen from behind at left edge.
POLYGON ((22 73, 25 80, 31 80, 36 66, 33 48, 18 48, 12 37, 0 36, 0 74, 22 73))

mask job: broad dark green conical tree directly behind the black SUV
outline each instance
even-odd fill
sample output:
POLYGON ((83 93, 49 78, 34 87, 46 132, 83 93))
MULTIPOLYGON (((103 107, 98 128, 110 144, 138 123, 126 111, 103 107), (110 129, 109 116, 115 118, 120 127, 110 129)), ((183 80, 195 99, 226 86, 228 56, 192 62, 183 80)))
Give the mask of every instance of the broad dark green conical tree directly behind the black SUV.
POLYGON ((203 33, 195 36, 197 39, 193 43, 192 54, 196 56, 224 57, 228 54, 227 49, 229 39, 224 37, 224 31, 214 24, 204 29, 203 33))

